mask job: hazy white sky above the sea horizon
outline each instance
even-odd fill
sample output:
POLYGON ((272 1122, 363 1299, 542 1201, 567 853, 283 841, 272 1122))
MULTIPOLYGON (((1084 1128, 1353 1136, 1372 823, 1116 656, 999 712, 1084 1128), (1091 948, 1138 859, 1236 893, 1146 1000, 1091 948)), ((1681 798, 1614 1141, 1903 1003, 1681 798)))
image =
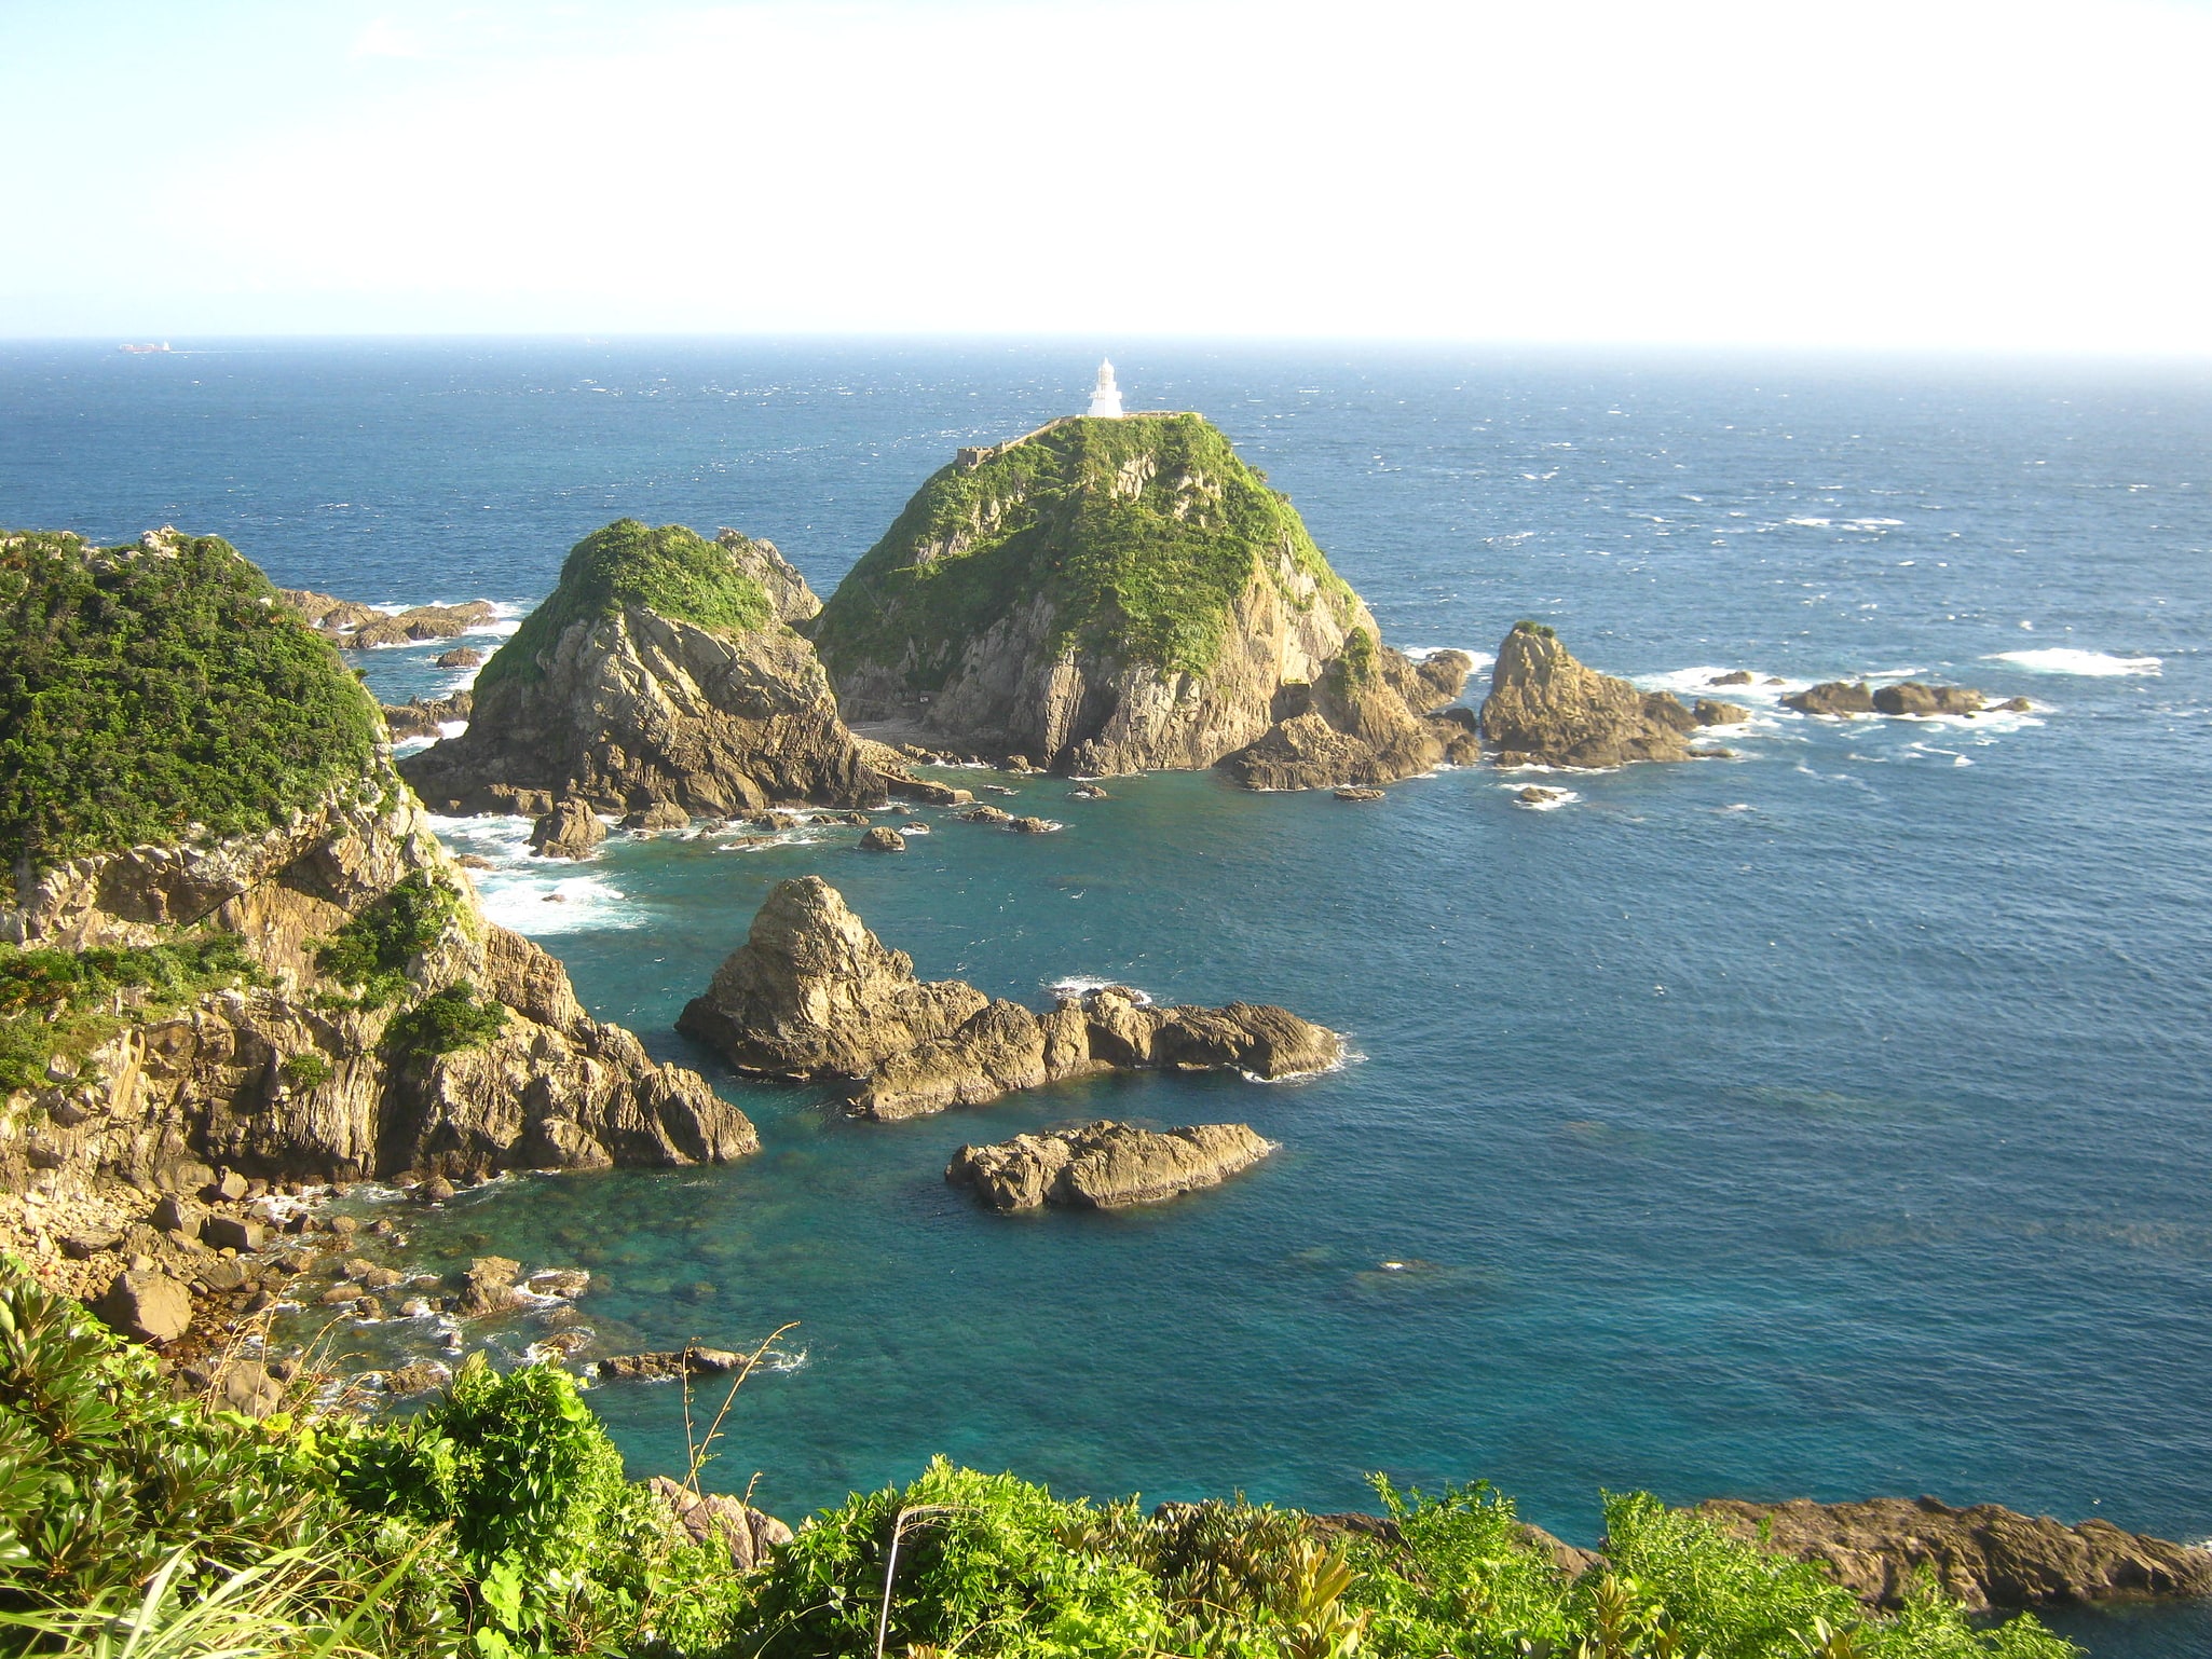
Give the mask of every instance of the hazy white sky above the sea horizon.
POLYGON ((0 0, 0 336, 2212 354, 2212 4, 0 0))

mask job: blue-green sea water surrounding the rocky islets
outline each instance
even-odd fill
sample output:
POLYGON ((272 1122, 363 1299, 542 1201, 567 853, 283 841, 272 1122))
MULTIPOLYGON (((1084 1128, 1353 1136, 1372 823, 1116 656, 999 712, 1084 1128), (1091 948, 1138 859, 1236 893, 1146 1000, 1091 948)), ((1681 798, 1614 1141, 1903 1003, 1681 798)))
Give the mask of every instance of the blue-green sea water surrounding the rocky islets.
MULTIPOLYGON (((830 591, 956 445, 1079 407, 1093 361, 0 345, 0 522, 175 522, 283 584, 520 613, 628 513, 765 535, 830 591)), ((493 914, 595 1013, 708 1071, 763 1152, 500 1181, 416 1225, 418 1254, 586 1265, 611 1345, 799 1321, 717 1464, 792 1515, 942 1451, 1068 1493, 1321 1509, 1378 1469, 1489 1478, 1579 1540, 1599 1489, 1630 1486, 2212 1535, 2212 374, 1117 361, 1133 407, 1201 409, 1267 469, 1396 644, 1486 657, 1533 615, 1683 692, 1911 670, 2033 712, 1832 723, 1759 684, 1719 692, 1756 710, 1739 759, 1548 779, 1573 792, 1548 812, 1489 768, 1374 807, 1212 776, 1082 803, 1031 779, 1018 810, 1060 834, 925 812, 931 834, 876 860, 816 827, 617 836, 549 872, 513 823, 447 823, 495 858, 493 914), (670 1031, 803 872, 927 975, 1035 1006, 1084 975, 1272 1000, 1360 1057, 847 1124, 670 1031), (942 1183, 962 1141, 1093 1115, 1234 1117, 1281 1150, 1115 1217, 993 1217, 942 1183)), ((392 699, 456 679, 431 655, 363 666, 392 699)), ((633 1471, 681 1467, 672 1389, 593 1398, 633 1471)), ((2066 1628, 2099 1655, 2212 1648, 2203 1610, 2066 1628)))

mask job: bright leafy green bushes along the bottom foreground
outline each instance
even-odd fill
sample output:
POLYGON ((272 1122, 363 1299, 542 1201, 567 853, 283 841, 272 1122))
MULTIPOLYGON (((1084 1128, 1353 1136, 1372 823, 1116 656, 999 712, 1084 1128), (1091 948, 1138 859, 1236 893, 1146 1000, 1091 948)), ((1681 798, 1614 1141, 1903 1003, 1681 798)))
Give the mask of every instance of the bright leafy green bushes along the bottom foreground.
POLYGON ((1245 1502, 1095 1506, 933 1462, 752 1575, 628 1484, 553 1367, 478 1356, 409 1420, 168 1394, 0 1267, 0 1648, 646 1659, 2068 1659, 1933 1588, 1869 1617, 1812 1566, 1648 1495, 1566 1579, 1489 1486, 1376 1482, 1389 1526, 1245 1502), (106 1646, 100 1646, 106 1644, 106 1646))

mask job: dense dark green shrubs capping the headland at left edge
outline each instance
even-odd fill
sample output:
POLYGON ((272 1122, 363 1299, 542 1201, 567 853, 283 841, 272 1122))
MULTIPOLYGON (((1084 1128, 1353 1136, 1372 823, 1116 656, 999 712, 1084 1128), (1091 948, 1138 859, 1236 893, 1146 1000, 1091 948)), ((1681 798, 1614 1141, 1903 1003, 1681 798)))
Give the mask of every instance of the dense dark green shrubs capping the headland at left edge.
POLYGON ((0 535, 0 863, 281 823, 367 774, 376 703, 215 535, 0 535))

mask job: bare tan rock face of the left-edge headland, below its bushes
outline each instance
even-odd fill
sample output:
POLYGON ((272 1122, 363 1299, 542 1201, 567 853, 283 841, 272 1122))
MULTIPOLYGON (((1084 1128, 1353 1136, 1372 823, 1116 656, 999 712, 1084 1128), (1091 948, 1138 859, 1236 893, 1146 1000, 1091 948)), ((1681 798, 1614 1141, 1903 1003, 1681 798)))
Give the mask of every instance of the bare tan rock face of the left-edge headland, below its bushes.
POLYGON ((259 971, 146 1018, 117 993, 104 1040, 7 1097, 0 1188, 53 1201, 190 1186, 177 1172, 197 1166, 480 1177, 757 1148, 697 1073, 591 1020, 557 960, 482 918, 389 770, 265 836, 75 858, 0 909, 0 936, 24 947, 148 947, 188 927, 239 936, 259 971), (438 894, 438 920, 389 1000, 319 967, 325 940, 403 891, 438 894), (482 1018, 498 1029, 442 1046, 422 1015, 456 995, 498 1009, 482 1018))

